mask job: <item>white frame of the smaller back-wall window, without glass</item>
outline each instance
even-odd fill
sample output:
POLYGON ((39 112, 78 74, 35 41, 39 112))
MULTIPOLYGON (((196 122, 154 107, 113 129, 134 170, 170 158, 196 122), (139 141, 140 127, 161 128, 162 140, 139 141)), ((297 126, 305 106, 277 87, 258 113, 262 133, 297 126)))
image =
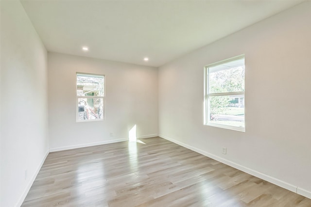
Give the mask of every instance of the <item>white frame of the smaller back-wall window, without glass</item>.
POLYGON ((81 73, 81 72, 76 72, 75 76, 75 90, 76 90, 76 122, 98 122, 98 121, 104 121, 105 120, 105 92, 106 92, 106 81, 105 81, 105 75, 102 74, 93 74, 93 73, 81 73), (103 77, 104 79, 104 84, 103 84, 103 96, 78 96, 77 92, 77 76, 78 75, 86 75, 86 76, 98 76, 98 77, 103 77), (103 118, 102 119, 84 119, 84 120, 79 120, 79 98, 103 98, 103 118))

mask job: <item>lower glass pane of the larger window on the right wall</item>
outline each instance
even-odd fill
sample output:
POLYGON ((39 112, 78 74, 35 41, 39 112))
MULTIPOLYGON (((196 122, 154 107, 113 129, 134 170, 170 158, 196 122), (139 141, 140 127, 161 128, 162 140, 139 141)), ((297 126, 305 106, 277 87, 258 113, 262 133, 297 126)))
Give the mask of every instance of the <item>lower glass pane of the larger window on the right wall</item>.
POLYGON ((210 96, 209 122, 245 127, 244 96, 210 96))

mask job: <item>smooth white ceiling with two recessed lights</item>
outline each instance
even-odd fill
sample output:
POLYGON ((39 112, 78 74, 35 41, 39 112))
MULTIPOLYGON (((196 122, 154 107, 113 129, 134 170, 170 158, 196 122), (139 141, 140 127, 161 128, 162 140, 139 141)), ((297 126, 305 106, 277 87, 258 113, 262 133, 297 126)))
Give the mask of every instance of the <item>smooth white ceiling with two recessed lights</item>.
POLYGON ((168 63, 300 2, 21 0, 48 51, 150 66, 168 63), (89 51, 82 51, 83 46, 89 51))

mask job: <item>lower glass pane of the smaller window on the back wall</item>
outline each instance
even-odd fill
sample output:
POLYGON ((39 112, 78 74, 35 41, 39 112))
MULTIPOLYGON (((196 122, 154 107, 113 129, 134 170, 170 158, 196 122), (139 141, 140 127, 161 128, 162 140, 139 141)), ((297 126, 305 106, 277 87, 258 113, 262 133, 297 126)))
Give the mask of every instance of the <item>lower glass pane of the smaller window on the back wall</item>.
POLYGON ((78 98, 78 120, 103 119, 103 98, 78 98))

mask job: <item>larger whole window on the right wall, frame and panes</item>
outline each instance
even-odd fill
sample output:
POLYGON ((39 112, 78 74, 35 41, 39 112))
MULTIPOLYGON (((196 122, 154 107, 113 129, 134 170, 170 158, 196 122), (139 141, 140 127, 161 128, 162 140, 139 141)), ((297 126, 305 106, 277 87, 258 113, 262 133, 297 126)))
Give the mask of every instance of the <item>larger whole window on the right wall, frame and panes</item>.
POLYGON ((245 131, 244 55, 205 66, 205 124, 245 131))

